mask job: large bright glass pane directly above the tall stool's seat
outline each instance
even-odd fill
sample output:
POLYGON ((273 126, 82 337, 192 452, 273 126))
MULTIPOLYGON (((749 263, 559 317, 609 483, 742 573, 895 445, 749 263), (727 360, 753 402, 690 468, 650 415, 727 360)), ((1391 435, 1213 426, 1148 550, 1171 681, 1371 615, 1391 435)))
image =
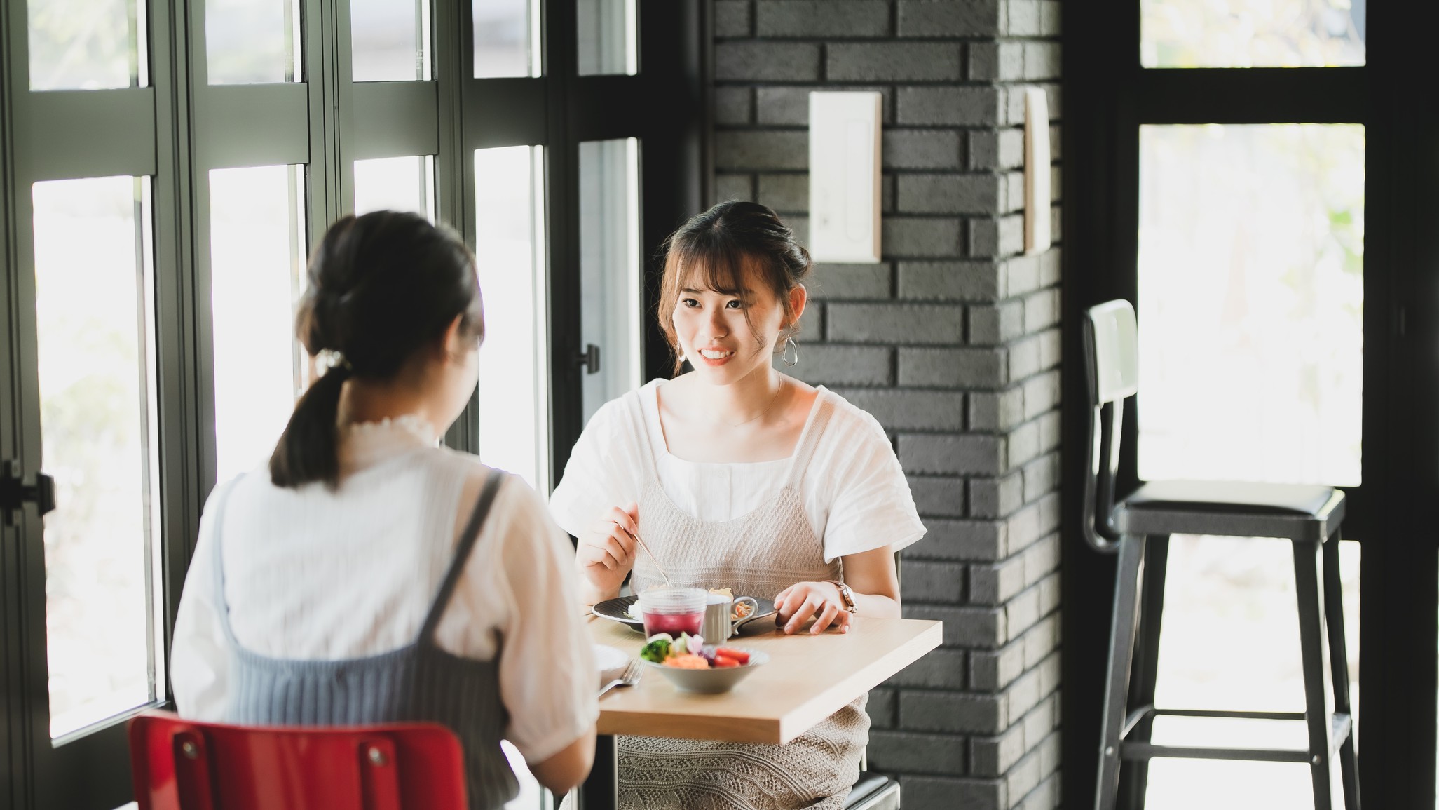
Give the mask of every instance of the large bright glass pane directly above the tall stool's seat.
POLYGON ((1360 482, 1364 128, 1140 129, 1140 478, 1360 482))

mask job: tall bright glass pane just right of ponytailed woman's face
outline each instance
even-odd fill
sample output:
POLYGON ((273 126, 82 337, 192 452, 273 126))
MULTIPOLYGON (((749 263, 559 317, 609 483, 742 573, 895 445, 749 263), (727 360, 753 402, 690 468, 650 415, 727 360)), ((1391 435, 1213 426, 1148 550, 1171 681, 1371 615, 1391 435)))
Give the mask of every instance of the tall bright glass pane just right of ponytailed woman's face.
POLYGON ((543 183, 540 147, 475 151, 475 259, 485 298, 479 458, 548 492, 543 183))

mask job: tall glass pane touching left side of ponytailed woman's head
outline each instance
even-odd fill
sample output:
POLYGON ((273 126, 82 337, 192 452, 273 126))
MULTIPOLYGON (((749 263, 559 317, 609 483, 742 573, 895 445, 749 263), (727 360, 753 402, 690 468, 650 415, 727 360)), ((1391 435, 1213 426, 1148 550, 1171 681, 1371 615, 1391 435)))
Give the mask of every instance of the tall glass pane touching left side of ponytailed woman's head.
POLYGON ((210 171, 210 296, 219 481, 269 462, 308 383, 295 341, 305 190, 294 165, 210 171))

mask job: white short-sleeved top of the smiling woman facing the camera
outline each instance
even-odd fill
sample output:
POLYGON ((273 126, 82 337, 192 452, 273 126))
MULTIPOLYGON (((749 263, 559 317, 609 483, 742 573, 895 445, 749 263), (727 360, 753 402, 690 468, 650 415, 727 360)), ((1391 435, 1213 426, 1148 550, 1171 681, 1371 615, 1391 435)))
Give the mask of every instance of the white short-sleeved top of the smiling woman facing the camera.
MULTIPOLYGON (((659 422, 658 391, 665 383, 653 380, 604 403, 590 417, 570 453, 564 479, 550 496, 550 514, 564 531, 578 535, 610 506, 639 501, 645 485, 640 453, 655 459, 665 495, 701 521, 730 521, 751 512, 784 485, 790 470, 787 458, 709 463, 672 455, 663 445, 659 422), (645 419, 649 446, 632 429, 633 409, 645 419)), ((800 499, 814 537, 825 541, 825 561, 884 545, 898 551, 924 537, 909 482, 879 422, 823 386, 814 399, 816 409, 820 397, 835 403, 835 413, 800 481, 800 499)), ((806 432, 813 417, 812 409, 806 432)))

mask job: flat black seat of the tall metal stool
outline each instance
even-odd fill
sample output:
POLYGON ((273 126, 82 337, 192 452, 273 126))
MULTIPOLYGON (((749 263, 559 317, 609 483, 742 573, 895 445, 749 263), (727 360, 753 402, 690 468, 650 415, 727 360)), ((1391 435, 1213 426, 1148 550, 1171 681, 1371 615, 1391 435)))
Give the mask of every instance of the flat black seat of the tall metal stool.
POLYGON ((1121 534, 1215 534, 1321 541, 1344 519, 1344 493, 1330 486, 1154 481, 1115 504, 1121 534))

